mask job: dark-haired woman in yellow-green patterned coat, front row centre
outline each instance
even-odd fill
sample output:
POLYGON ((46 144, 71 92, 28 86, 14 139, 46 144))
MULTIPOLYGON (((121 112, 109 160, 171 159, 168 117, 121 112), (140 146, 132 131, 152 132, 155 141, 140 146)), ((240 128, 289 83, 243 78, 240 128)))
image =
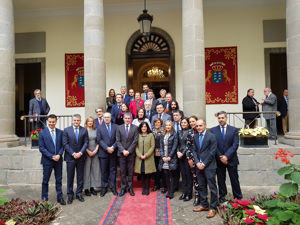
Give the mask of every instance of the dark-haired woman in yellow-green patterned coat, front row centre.
POLYGON ((141 174, 142 195, 149 195, 151 174, 156 172, 154 162, 155 139, 147 122, 142 122, 139 126, 139 141, 135 152, 134 172, 141 174), (146 184, 145 184, 146 181, 146 184))

